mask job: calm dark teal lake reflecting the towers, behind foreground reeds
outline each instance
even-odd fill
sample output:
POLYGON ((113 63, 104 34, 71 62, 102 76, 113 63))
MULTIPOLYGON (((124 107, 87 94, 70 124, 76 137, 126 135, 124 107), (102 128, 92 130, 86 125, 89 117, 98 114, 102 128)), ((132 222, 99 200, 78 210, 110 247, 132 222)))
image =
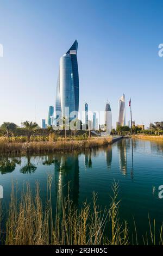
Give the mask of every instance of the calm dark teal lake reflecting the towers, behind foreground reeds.
MULTIPOLYGON (((122 139, 109 147, 77 153, 55 153, 44 156, 1 157, 0 185, 2 203, 8 209, 12 181, 21 194, 23 185, 40 183, 42 200, 46 199, 47 174, 53 174, 52 199, 55 205, 61 187, 70 182, 70 197, 82 206, 91 202, 92 192, 98 193, 97 203, 110 205, 111 184, 119 182, 120 218, 134 230, 133 216, 139 236, 149 231, 148 213, 155 218, 156 229, 163 220, 163 199, 158 187, 163 185, 163 144, 139 139, 122 139)), ((67 186, 62 188, 67 195, 67 186)))

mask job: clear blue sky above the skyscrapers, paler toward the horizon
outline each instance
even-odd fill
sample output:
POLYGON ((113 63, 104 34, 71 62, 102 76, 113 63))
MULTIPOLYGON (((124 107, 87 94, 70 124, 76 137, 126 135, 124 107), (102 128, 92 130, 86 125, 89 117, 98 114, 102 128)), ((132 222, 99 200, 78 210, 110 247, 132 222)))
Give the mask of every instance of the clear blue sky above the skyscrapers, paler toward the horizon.
POLYGON ((163 1, 0 0, 0 124, 47 118, 59 58, 78 40, 80 111, 131 97, 136 124, 162 121, 163 1))

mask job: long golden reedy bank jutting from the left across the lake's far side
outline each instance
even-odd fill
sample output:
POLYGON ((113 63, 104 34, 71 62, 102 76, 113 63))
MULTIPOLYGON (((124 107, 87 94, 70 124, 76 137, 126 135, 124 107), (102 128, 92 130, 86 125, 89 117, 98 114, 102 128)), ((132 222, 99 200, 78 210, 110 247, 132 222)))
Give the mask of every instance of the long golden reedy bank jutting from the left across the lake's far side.
POLYGON ((55 142, 6 142, 0 141, 0 154, 51 153, 55 151, 73 151, 101 147, 112 143, 112 138, 91 138, 85 141, 55 142))

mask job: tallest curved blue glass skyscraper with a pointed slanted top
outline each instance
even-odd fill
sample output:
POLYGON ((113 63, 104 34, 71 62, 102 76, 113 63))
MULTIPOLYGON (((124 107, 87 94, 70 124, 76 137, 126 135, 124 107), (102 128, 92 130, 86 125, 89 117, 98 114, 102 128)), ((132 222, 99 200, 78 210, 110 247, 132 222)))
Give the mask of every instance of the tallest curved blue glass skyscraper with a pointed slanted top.
MULTIPOLYGON (((61 117, 67 117, 67 108, 69 113, 72 111, 79 111, 77 50, 78 42, 76 40, 66 54, 60 58, 55 100, 55 111, 57 118, 60 117, 60 115, 61 117)), ((77 114, 75 114, 74 117, 77 117, 77 114)))

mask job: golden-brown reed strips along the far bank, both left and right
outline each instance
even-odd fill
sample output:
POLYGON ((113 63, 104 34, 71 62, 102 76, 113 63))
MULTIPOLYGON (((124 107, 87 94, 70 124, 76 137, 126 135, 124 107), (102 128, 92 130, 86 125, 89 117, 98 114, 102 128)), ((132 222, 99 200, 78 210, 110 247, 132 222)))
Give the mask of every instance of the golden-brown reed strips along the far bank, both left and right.
MULTIPOLYGON (((126 138, 126 136, 122 136, 126 138)), ((128 137, 128 136, 127 136, 128 137)), ((135 139, 146 139, 149 141, 163 143, 163 136, 159 135, 133 135, 129 136, 135 139)), ((72 152, 73 150, 81 151, 95 147, 103 147, 113 143, 113 137, 93 137, 84 136, 67 136, 49 137, 34 136, 28 142, 26 137, 0 137, 0 155, 3 154, 40 154, 53 152, 72 152)))

